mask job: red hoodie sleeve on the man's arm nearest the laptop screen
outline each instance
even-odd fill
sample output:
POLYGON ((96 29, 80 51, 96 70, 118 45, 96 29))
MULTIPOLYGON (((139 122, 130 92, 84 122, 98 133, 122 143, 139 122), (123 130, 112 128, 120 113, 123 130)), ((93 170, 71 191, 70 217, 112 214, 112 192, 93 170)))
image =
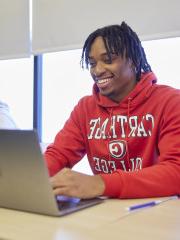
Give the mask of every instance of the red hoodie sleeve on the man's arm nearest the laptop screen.
POLYGON ((72 168, 86 154, 79 120, 82 114, 79 114, 79 108, 80 104, 74 108, 63 129, 44 153, 50 176, 55 175, 64 167, 72 168))

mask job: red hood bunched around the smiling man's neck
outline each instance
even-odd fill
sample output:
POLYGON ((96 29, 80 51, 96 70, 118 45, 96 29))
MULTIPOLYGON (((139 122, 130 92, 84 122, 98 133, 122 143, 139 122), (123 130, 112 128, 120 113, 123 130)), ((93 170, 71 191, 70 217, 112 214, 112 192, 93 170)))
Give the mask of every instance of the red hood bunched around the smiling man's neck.
POLYGON ((151 95, 156 82, 157 78, 153 72, 143 73, 135 88, 120 103, 114 102, 108 97, 101 95, 96 84, 93 86, 93 96, 95 97, 97 104, 105 108, 117 106, 127 108, 129 100, 131 100, 131 106, 137 106, 151 95))

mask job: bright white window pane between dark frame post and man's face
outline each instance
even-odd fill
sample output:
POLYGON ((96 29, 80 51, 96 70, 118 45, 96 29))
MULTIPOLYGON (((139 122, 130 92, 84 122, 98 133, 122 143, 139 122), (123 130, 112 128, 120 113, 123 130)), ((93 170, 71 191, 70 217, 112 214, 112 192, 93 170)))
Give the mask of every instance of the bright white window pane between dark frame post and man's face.
POLYGON ((92 92, 93 80, 80 66, 81 50, 43 56, 43 136, 51 142, 78 100, 92 92))

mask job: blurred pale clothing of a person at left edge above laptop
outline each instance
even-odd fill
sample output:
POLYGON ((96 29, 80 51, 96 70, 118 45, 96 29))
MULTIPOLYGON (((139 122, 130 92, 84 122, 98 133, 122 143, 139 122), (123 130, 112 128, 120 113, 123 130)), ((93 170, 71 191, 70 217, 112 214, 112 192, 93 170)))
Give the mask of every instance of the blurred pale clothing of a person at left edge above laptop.
POLYGON ((10 115, 8 105, 1 101, 0 101, 0 128, 1 129, 17 128, 12 116, 10 115))

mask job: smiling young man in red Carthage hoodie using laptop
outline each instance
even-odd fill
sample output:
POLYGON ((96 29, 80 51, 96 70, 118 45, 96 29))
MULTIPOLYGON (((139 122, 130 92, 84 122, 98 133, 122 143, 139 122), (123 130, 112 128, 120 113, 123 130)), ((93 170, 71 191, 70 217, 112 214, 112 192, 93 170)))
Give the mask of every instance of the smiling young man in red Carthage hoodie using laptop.
POLYGON ((93 95, 82 98, 45 153, 55 194, 144 198, 180 193, 180 91, 156 84, 124 22, 85 41, 93 95), (72 171, 87 154, 94 176, 72 171))

